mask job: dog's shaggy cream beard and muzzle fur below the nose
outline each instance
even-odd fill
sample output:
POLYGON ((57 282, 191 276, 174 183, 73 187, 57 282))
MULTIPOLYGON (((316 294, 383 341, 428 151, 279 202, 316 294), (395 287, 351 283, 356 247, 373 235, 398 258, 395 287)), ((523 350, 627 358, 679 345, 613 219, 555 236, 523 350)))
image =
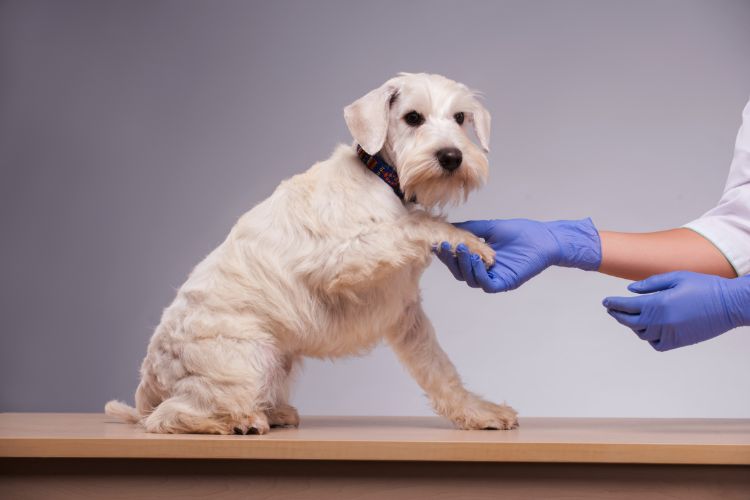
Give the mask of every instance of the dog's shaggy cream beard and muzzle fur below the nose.
POLYGON ((485 183, 488 169, 487 158, 476 148, 465 149, 464 161, 452 172, 440 166, 430 149, 407 155, 398 173, 407 200, 416 197, 426 208, 441 209, 466 202, 485 183))

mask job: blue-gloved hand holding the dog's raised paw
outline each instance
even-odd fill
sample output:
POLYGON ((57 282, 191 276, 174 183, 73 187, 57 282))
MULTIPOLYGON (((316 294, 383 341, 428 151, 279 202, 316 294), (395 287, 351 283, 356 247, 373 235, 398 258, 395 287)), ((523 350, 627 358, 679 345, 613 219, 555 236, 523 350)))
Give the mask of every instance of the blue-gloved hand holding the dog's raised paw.
POLYGON ((455 226, 484 238, 495 250, 495 264, 487 270, 464 245, 458 245, 454 255, 443 242, 435 253, 457 280, 488 293, 518 288, 549 266, 596 270, 602 260, 599 233, 591 219, 476 220, 455 226))

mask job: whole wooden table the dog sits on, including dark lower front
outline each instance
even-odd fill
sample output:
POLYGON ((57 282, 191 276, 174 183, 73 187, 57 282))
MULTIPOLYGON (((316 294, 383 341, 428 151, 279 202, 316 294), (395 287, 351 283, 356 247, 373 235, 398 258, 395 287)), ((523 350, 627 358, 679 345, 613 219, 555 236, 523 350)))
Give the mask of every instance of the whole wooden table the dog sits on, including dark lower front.
POLYGON ((750 499, 750 420, 305 417, 158 435, 101 414, 0 414, 0 498, 750 499))

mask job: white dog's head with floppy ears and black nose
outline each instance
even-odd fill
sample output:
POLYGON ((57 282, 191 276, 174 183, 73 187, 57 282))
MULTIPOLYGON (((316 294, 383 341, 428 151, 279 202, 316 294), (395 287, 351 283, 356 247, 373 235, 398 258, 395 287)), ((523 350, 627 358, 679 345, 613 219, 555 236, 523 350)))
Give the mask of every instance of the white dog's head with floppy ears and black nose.
POLYGON ((461 83, 401 73, 347 106, 344 118, 365 152, 393 165, 407 199, 416 196, 426 207, 455 204, 487 179, 490 114, 461 83))

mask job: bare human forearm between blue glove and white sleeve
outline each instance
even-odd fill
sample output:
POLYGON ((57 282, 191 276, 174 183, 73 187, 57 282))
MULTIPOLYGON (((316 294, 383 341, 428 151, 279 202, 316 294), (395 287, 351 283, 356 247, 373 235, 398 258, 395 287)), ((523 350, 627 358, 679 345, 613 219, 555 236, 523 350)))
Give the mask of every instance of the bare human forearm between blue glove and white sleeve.
POLYGON ((641 280, 654 274, 686 270, 734 278, 726 257, 710 241, 690 229, 654 233, 600 231, 599 272, 641 280))

